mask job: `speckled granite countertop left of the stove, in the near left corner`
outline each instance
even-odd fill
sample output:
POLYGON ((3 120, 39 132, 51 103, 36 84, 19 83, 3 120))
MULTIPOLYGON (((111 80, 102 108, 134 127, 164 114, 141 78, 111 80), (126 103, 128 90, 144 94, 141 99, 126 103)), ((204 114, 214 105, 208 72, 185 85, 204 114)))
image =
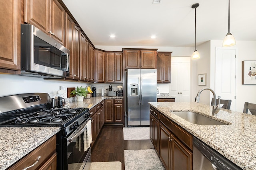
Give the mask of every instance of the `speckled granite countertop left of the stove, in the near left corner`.
POLYGON ((0 170, 5 170, 50 139, 60 127, 0 127, 0 170))

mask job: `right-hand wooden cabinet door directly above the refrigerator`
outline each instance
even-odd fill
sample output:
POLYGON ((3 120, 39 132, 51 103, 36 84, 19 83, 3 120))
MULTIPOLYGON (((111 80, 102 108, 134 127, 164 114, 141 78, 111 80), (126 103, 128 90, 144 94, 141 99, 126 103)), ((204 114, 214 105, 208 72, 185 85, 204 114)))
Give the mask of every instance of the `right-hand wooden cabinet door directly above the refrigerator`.
POLYGON ((156 51, 141 51, 141 68, 156 68, 156 51))

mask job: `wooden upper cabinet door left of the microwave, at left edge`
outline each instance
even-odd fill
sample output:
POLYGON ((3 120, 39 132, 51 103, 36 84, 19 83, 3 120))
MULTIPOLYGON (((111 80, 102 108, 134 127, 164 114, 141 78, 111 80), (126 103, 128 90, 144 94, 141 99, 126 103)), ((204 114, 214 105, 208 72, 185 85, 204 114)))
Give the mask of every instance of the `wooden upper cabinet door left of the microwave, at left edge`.
POLYGON ((1 0, 0 4, 0 68, 20 70, 21 2, 1 0))

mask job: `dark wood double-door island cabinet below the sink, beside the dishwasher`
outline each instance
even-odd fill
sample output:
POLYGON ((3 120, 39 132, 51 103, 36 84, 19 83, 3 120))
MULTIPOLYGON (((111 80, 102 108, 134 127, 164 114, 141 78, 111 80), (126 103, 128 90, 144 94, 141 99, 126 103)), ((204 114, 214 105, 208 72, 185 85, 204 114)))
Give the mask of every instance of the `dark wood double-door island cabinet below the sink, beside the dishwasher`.
MULTIPOLYGON (((150 107, 150 117, 152 117, 150 107)), ((153 109, 152 109, 153 110, 153 109)), ((156 116, 152 117, 153 119, 156 116)), ((159 113, 157 145, 152 142, 166 170, 193 169, 193 136, 185 129, 159 113), (158 151, 159 150, 159 151, 158 151)), ((150 128, 150 136, 154 128, 150 128)), ((155 130, 154 130, 155 131, 155 130)))

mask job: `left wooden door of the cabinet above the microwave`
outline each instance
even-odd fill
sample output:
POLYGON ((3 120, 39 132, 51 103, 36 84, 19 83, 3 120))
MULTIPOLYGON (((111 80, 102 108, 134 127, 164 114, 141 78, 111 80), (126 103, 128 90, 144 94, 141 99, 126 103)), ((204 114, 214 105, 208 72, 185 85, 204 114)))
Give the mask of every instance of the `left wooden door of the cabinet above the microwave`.
POLYGON ((50 0, 24 0, 24 22, 35 25, 49 34, 50 9, 50 0))

